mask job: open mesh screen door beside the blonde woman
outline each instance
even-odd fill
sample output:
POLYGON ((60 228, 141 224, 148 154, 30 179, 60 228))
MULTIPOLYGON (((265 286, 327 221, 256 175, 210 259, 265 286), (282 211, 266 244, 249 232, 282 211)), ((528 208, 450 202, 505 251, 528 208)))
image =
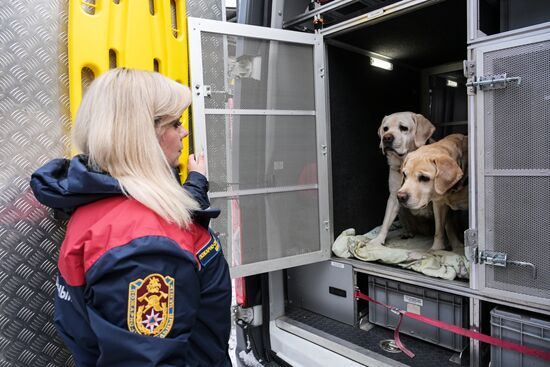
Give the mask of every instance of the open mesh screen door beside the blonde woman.
POLYGON ((193 140, 233 277, 328 258, 322 38, 189 19, 193 140))

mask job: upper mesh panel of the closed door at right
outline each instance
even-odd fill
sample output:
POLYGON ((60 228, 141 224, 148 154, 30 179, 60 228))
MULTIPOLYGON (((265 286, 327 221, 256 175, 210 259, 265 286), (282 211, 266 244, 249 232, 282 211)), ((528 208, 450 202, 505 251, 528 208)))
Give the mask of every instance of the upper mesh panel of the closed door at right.
POLYGON ((484 56, 484 74, 520 76, 521 84, 485 92, 486 169, 550 169, 550 41, 484 56))

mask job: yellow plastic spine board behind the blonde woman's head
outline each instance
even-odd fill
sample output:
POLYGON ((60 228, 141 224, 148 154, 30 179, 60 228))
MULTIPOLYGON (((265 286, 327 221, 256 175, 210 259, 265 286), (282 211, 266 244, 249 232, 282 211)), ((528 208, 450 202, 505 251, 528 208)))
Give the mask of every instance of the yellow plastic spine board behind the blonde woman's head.
MULTIPOLYGON (((115 66, 157 70, 189 85, 185 0, 70 0, 68 27, 72 121, 82 100, 88 69, 94 76, 115 66)), ((182 120, 189 130, 188 111, 182 120)), ((184 139, 182 182, 187 176, 188 157, 189 139, 184 139)))

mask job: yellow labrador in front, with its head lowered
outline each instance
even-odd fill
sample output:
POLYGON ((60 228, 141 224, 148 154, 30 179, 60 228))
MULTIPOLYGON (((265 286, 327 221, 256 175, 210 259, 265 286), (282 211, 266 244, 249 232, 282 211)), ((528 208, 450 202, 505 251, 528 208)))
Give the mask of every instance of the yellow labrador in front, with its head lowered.
POLYGON ((445 248, 445 231, 453 249, 462 241, 447 222, 449 208, 468 209, 468 137, 451 134, 409 153, 403 162, 403 186, 397 192, 401 205, 409 209, 433 202, 435 235, 432 250, 445 248))

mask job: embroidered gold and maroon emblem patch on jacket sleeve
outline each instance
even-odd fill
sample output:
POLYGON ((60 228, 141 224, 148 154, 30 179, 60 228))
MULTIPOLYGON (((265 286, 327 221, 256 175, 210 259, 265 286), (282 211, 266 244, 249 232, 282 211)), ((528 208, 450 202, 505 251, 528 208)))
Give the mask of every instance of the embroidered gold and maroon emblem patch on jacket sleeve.
POLYGON ((174 278, 151 274, 128 286, 128 330, 166 337, 174 322, 174 278))

